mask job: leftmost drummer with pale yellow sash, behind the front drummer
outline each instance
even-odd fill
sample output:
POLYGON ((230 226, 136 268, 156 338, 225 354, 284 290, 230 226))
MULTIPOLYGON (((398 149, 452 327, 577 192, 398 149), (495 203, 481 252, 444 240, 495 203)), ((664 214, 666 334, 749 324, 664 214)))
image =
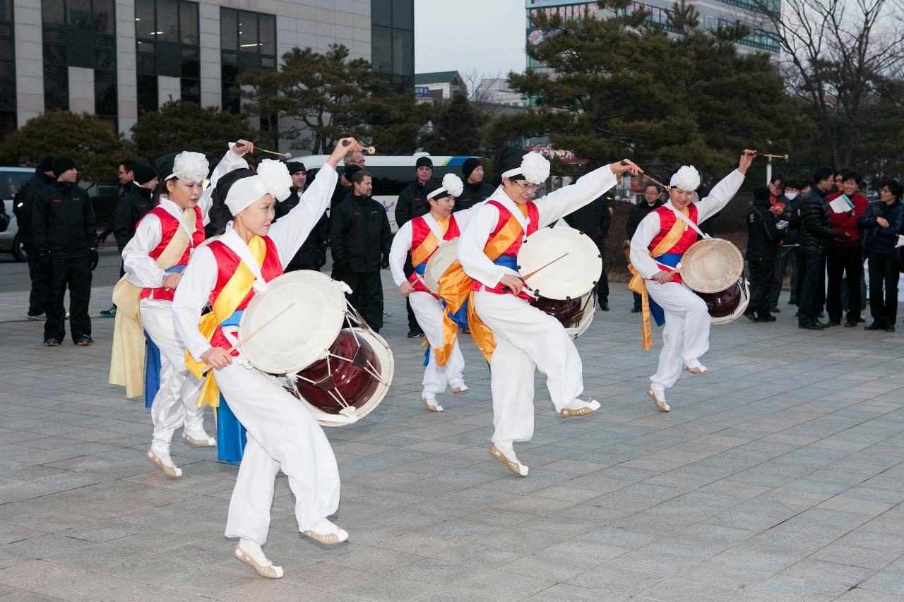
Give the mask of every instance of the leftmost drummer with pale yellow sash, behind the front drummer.
MULTIPOLYGON (((232 145, 214 169, 212 183, 247 167, 242 155, 253 148, 247 140, 232 145)), ((204 430, 203 407, 195 405, 201 381, 185 367, 185 348, 173 325, 173 296, 185 265, 204 240, 212 186, 204 188, 209 165, 201 153, 170 153, 155 163, 160 202, 138 222, 122 249, 125 276, 113 291, 118 312, 109 381, 124 385, 128 397, 140 394, 144 385, 154 424, 146 457, 164 475, 176 478, 182 469, 170 457, 170 445, 177 428, 183 428, 182 438, 191 446, 216 446, 204 430)))

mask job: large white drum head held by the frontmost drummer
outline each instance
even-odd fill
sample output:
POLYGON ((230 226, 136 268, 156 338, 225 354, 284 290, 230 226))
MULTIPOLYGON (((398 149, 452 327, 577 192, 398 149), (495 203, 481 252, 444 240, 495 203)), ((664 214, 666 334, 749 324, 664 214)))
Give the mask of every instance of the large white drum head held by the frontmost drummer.
POLYGON ((247 343, 241 353, 261 372, 301 370, 334 342, 345 317, 345 296, 332 278, 313 270, 288 272, 251 299, 239 325, 239 340, 290 306, 247 343), (294 304, 294 305, 293 305, 294 304))

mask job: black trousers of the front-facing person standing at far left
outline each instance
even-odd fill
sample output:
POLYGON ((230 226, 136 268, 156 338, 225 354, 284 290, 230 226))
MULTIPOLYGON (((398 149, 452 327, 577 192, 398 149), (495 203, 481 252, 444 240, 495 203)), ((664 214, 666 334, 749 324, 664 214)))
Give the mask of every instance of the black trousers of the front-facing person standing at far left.
POLYGON ((66 288, 69 288, 72 341, 77 342, 83 336, 90 336, 88 304, 91 300, 91 268, 88 255, 72 257, 66 252, 52 252, 48 283, 50 294, 47 298, 44 340, 56 339, 62 342, 66 336, 66 308, 63 306, 66 288))

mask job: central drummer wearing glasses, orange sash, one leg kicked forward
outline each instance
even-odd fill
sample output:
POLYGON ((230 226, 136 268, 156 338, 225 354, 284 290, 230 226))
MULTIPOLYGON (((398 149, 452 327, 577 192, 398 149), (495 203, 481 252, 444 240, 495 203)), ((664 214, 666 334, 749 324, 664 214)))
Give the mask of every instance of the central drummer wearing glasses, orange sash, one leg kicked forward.
POLYGON ((462 232, 457 259, 473 279, 468 298, 471 334, 490 362, 495 427, 490 456, 514 474, 526 476, 528 467, 518 461, 513 444, 533 437, 535 369, 546 375, 552 404, 560 416, 586 416, 599 409, 599 402, 579 399, 584 381, 578 349, 558 319, 530 305, 532 297, 517 270, 518 250, 535 231, 615 186, 618 175, 639 174, 640 169, 628 160, 604 165, 569 186, 532 200, 550 175, 545 157, 509 146, 497 155, 495 165, 502 185, 462 232))

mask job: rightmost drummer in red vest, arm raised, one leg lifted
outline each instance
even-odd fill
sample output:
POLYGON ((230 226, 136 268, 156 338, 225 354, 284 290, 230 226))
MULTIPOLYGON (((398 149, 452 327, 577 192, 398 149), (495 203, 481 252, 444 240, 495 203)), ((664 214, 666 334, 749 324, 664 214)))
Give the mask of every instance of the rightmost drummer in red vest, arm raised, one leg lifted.
POLYGON ((681 376, 682 368, 692 374, 707 372, 700 357, 710 348, 711 318, 700 296, 683 286, 675 266, 684 251, 697 241, 697 224, 720 212, 738 193, 744 174, 757 151, 745 149, 738 169, 717 183, 702 201, 694 202, 700 174, 693 165, 683 165, 669 183, 669 201, 649 212, 638 224, 631 239, 634 277, 629 288, 643 296, 644 349, 652 349, 650 316, 663 329, 663 350, 659 367, 646 390, 660 411, 670 411, 665 390, 681 376))

